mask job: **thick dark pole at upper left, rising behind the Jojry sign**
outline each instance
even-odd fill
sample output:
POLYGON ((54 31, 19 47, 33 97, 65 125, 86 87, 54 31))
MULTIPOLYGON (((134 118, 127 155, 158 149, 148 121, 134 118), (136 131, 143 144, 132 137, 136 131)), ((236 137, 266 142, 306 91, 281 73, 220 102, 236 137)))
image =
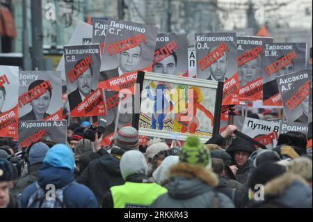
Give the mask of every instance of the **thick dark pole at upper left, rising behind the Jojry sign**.
POLYGON ((33 70, 43 70, 43 31, 42 31, 42 7, 41 0, 31 1, 31 32, 32 32, 32 58, 33 70))

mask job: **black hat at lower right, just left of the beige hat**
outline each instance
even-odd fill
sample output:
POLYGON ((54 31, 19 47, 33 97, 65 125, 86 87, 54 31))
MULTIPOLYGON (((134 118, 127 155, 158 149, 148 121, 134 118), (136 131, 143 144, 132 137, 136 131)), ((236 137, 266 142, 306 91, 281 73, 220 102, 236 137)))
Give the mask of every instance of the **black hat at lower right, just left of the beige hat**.
POLYGON ((259 165, 250 177, 250 189, 255 190, 256 184, 265 186, 267 182, 279 177, 286 172, 286 168, 280 164, 274 164, 271 161, 266 161, 259 165))

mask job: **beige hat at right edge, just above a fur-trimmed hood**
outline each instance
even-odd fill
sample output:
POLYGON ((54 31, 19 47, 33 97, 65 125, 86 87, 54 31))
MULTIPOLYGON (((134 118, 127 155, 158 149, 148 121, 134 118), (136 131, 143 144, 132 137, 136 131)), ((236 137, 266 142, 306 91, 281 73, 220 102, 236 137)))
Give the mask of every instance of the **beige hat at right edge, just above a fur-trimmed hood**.
POLYGON ((288 162, 287 171, 303 177, 312 188, 312 160, 306 157, 293 159, 288 162))

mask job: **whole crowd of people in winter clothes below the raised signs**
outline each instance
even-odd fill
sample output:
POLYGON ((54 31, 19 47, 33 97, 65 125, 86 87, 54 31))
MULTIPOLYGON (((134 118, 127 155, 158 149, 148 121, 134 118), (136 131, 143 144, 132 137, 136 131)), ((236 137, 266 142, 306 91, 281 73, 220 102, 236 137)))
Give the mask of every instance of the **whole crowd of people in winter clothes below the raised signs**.
POLYGON ((139 145, 138 131, 122 127, 102 146, 85 122, 67 128, 67 144, 39 141, 21 151, 0 141, 0 208, 311 208, 306 136, 280 134, 276 148, 263 150, 235 130, 229 125, 206 144, 188 136, 179 147, 160 138, 139 145))

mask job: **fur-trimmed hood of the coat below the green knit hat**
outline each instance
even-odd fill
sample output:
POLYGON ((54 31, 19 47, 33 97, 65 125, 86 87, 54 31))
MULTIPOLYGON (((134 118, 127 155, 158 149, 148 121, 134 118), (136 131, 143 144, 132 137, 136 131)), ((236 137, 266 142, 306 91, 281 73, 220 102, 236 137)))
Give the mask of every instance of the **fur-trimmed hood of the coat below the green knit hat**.
POLYGON ((205 193, 216 187, 218 177, 212 171, 191 164, 179 163, 168 172, 168 195, 177 199, 186 199, 205 193))

